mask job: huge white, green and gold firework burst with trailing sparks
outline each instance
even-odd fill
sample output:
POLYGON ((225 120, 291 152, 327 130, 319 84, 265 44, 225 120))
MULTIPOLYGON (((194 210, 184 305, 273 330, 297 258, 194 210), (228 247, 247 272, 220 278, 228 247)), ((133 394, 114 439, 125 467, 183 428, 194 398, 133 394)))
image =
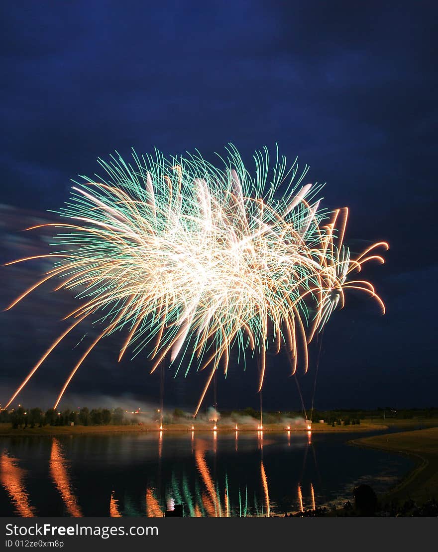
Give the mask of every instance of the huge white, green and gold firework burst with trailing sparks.
MULTIPOLYGON (((223 171, 200 155, 166 160, 161 153, 134 164, 100 161, 107 173, 73 186, 53 268, 8 306, 47 280, 74 290, 80 305, 71 325, 47 349, 6 407, 62 339, 85 319, 101 331, 69 374, 99 341, 124 330, 119 360, 144 349, 152 372, 169 354, 176 371, 211 368, 196 412, 220 362, 225 374, 231 348, 245 362, 259 358, 262 388, 266 352, 284 349, 295 373, 307 370, 307 344, 325 325, 345 289, 359 289, 381 304, 373 286, 347 275, 371 260, 384 242, 350 258, 343 244, 347 209, 327 213, 315 200, 319 185, 301 185, 296 162, 285 158, 268 176, 268 153, 255 155, 252 177, 233 146, 223 171), (282 195, 280 196, 280 188, 282 195), (278 196, 278 197, 277 197, 278 196), (312 314, 311 314, 312 313, 312 314)), ((47 226, 47 225, 43 225, 47 226)), ((34 226, 37 228, 39 226, 34 226)), ((18 261, 14 261, 18 262, 18 261)), ((9 263, 12 264, 12 263, 9 263)))

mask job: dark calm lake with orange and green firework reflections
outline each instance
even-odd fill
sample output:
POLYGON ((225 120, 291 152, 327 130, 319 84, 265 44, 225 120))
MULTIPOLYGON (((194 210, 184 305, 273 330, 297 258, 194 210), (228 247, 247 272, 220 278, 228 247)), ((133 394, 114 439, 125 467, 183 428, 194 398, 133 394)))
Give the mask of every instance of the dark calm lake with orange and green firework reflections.
POLYGON ((378 493, 413 461, 364 433, 144 432, 0 440, 0 516, 273 516, 378 493))

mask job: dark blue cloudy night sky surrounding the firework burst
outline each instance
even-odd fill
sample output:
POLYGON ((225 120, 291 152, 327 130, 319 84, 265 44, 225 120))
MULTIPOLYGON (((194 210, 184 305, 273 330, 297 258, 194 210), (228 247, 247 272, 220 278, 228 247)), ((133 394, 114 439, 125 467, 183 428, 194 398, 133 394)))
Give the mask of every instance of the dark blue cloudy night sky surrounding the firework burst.
MULTIPOLYGON (((437 12, 435 2, 4 3, 2 261, 47 251, 41 236, 18 230, 53 217, 45 211, 68 199, 71 178, 98 169, 99 156, 157 146, 213 158, 232 142, 251 165, 254 150, 277 142, 291 162, 310 165, 307 181, 327 182, 325 206, 349 206, 353 250, 391 246, 387 263, 364 273, 387 314, 347 297, 323 336, 316 405, 438 406, 437 12)), ((2 269, 4 306, 37 268, 2 269)), ((1 402, 60 333, 69 300, 44 292, 0 314, 1 402)), ((53 400, 75 343, 43 365, 23 401, 53 400)), ((157 400, 158 379, 141 359, 117 364, 118 348, 107 340, 91 355, 64 405, 157 400)), ((308 403, 315 359, 314 346, 299 376, 308 403)), ((268 368, 266 407, 298 408, 285 359, 268 368)), ((190 408, 205 378, 168 374, 168 404, 190 408)), ((255 369, 232 367, 218 384, 219 410, 256 406, 256 384, 255 369)))

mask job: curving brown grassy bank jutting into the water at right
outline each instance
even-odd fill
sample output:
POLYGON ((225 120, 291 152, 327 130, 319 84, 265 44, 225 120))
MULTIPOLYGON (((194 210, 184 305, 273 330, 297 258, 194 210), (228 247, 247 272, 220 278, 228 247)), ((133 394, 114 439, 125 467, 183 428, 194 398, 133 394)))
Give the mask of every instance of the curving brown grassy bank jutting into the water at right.
POLYGON ((412 457, 415 468, 396 487, 382 495, 383 502, 412 498, 421 504, 438 497, 438 427, 363 437, 353 444, 390 450, 412 457))

